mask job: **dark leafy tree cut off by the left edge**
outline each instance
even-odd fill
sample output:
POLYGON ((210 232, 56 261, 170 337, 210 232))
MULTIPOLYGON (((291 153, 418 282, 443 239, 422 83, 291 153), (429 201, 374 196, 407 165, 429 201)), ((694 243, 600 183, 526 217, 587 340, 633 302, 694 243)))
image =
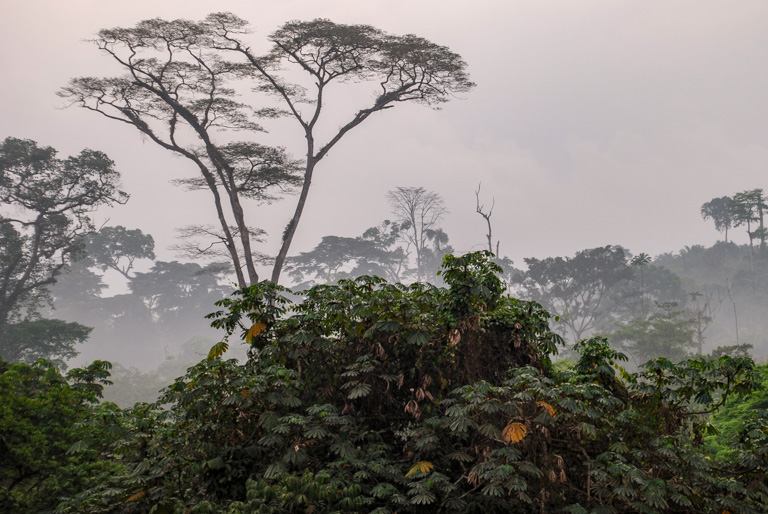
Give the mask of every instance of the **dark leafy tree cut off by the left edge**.
POLYGON ((0 143, 0 337, 4 325, 34 313, 47 287, 82 255, 91 211, 127 201, 119 178, 101 152, 59 159, 34 141, 0 143))

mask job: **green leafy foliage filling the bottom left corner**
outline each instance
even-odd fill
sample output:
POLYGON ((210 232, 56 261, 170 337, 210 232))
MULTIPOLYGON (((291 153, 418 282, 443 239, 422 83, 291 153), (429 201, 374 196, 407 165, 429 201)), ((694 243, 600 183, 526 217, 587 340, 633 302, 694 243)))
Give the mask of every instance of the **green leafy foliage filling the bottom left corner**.
POLYGON ((98 404, 109 367, 96 361, 64 376, 43 360, 0 359, 0 512, 51 512, 121 469, 107 445, 123 414, 98 404))

